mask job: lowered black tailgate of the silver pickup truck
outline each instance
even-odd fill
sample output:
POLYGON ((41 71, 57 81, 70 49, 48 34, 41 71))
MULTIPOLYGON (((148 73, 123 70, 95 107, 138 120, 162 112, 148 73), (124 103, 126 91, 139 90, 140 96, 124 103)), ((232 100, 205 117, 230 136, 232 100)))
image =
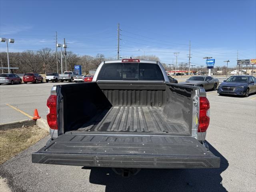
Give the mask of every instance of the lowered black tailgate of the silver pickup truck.
POLYGON ((118 168, 219 168, 220 158, 189 136, 62 134, 33 163, 118 168))

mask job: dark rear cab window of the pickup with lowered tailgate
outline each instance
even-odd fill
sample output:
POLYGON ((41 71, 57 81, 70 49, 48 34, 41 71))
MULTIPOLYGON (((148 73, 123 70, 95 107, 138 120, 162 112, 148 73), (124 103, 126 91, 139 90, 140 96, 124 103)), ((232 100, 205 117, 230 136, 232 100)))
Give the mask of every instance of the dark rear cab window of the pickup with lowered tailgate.
POLYGON ((164 81, 158 64, 110 63, 104 64, 97 80, 164 81))

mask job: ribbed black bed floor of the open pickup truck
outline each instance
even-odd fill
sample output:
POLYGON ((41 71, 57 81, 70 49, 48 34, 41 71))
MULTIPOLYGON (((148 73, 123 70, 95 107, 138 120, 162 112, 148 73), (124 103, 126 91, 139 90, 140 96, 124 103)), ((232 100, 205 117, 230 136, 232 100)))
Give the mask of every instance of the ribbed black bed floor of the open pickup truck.
POLYGON ((98 112, 78 130, 66 133, 88 133, 88 131, 190 134, 186 126, 168 120, 163 114, 163 107, 138 106, 113 106, 109 110, 98 112))

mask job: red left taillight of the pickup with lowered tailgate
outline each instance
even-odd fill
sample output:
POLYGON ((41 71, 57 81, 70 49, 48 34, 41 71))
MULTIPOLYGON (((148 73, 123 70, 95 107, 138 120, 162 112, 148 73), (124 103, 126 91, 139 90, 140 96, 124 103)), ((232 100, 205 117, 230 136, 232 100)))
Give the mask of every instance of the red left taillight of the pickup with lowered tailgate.
POLYGON ((47 107, 49 108, 49 113, 47 114, 47 122, 51 129, 58 129, 57 123, 57 96, 50 95, 47 100, 47 107))

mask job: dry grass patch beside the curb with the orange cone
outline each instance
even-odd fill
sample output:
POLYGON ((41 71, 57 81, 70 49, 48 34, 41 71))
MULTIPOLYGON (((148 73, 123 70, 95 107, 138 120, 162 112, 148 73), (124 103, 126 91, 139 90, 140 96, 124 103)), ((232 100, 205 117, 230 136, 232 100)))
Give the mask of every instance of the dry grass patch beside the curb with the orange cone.
POLYGON ((0 164, 32 146, 48 132, 38 126, 0 130, 0 164))

